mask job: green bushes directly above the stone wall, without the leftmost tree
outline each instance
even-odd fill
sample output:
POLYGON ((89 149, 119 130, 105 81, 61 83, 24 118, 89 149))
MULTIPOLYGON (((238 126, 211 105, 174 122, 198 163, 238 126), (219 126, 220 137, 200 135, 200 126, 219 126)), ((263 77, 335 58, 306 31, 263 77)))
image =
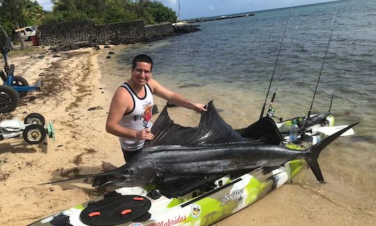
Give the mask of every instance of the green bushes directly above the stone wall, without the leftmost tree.
POLYGON ((143 19, 146 24, 175 22, 171 8, 150 0, 53 0, 52 13, 45 15, 44 24, 93 19, 95 24, 127 22, 143 19))

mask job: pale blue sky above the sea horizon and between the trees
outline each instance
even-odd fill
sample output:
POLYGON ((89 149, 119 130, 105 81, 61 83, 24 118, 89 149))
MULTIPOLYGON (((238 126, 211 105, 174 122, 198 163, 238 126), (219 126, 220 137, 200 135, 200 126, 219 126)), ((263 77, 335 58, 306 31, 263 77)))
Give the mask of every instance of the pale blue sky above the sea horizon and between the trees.
MULTIPOLYGON (((51 0, 37 0, 44 10, 51 11, 51 0)), ((159 0, 164 6, 179 12, 179 0, 159 0)), ((180 15, 178 19, 193 19, 197 17, 213 17, 234 13, 246 13, 272 8, 302 6, 334 0, 180 0, 180 15)))

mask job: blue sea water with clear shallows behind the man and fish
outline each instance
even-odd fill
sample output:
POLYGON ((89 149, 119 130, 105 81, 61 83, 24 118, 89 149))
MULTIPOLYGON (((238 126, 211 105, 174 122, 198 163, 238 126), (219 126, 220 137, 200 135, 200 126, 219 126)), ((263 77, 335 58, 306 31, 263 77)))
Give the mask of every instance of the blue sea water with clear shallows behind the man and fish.
POLYGON ((202 31, 196 33, 127 46, 116 58, 118 72, 113 74, 128 75, 132 58, 148 54, 154 60, 152 76, 159 83, 196 102, 214 100, 234 128, 260 117, 275 64, 266 109, 276 90, 279 118, 308 113, 320 76, 313 112, 328 111, 334 92, 335 124, 360 124, 354 136, 338 138, 320 155, 330 185, 320 186, 309 170, 300 173, 297 182, 336 203, 375 213, 376 1, 294 7, 285 31, 289 11, 202 22, 197 24, 202 31))

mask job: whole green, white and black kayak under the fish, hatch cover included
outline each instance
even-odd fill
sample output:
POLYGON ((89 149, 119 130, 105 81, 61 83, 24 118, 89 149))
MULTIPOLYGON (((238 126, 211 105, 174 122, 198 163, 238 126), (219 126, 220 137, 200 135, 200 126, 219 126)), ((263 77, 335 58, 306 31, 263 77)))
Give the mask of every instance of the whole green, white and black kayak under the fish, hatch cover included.
POLYGON ((173 181, 152 191, 118 188, 31 225, 211 225, 290 181, 305 165, 304 160, 294 160, 239 177, 173 181), (180 189, 171 189, 174 186, 180 189))

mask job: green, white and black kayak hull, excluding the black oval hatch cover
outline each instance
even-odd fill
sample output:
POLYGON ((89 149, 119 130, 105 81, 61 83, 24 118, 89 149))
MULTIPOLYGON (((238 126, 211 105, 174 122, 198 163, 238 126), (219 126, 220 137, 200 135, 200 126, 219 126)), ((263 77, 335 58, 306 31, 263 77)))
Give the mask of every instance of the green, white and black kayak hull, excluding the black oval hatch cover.
MULTIPOLYGON (((148 210, 150 218, 138 218, 120 225, 212 225, 248 207, 285 182, 290 181, 305 164, 304 160, 294 160, 274 170, 258 168, 233 179, 227 175, 213 181, 215 188, 211 191, 197 190, 177 198, 162 195, 154 200, 148 197, 148 193, 141 188, 131 191, 129 188, 118 188, 116 192, 121 195, 142 195, 151 202, 151 207, 148 210)), ((85 225, 80 218, 81 212, 88 207, 88 204, 103 199, 104 196, 97 197, 91 202, 79 204, 61 213, 38 220, 31 225, 56 225, 56 223, 85 225)))

